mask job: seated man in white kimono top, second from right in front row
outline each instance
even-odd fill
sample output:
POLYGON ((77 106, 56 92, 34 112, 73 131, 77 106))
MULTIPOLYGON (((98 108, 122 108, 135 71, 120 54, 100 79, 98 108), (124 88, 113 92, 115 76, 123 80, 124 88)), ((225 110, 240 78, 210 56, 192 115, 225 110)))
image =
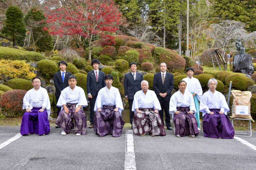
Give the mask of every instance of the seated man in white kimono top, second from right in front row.
POLYGON ((179 91, 174 93, 170 99, 169 112, 172 114, 175 126, 175 135, 177 137, 189 135, 195 137, 199 134, 196 118, 193 113, 196 112, 193 95, 186 89, 187 83, 182 80, 178 83, 179 91))

